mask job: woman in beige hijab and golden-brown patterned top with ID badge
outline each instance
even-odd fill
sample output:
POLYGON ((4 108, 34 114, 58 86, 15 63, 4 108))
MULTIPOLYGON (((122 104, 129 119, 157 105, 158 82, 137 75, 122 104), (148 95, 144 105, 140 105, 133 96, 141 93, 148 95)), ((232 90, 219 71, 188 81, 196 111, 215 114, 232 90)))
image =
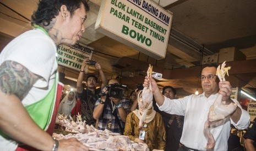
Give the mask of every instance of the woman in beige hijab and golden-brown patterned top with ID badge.
POLYGON ((161 114, 155 112, 152 101, 143 101, 142 91, 138 92, 138 105, 139 109, 127 115, 124 135, 136 143, 146 143, 150 150, 165 150, 165 125, 161 114))

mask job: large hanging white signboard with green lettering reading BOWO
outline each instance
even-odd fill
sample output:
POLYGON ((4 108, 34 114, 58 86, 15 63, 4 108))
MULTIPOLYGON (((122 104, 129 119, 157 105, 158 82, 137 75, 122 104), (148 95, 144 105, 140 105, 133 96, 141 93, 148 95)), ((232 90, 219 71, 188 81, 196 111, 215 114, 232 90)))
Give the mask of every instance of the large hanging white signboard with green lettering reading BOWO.
POLYGON ((95 30, 155 59, 164 59, 171 23, 170 11, 150 0, 104 0, 95 30))

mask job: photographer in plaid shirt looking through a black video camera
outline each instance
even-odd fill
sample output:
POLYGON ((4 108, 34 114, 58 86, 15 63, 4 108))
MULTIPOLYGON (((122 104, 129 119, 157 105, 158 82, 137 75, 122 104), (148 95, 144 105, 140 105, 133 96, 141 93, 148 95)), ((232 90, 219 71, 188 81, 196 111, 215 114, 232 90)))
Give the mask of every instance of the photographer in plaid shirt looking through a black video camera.
POLYGON ((98 129, 108 129, 123 134, 127 111, 130 108, 129 100, 123 98, 122 89, 111 92, 118 85, 116 79, 111 79, 101 91, 101 98, 96 101, 94 119, 99 120, 98 129), (114 86, 113 86, 114 85, 114 86), (114 95, 114 96, 112 96, 114 95), (116 98, 117 97, 117 98, 116 98))

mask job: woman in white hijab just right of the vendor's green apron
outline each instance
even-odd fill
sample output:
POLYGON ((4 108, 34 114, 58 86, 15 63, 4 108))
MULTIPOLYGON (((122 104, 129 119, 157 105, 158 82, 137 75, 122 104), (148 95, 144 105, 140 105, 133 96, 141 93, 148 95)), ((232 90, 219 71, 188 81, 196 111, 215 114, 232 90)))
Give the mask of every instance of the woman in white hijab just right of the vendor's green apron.
POLYGON ((69 91, 68 94, 61 100, 61 103, 59 103, 58 113, 64 113, 68 115, 69 118, 70 112, 75 106, 75 103, 77 103, 77 100, 75 100, 75 92, 69 91))

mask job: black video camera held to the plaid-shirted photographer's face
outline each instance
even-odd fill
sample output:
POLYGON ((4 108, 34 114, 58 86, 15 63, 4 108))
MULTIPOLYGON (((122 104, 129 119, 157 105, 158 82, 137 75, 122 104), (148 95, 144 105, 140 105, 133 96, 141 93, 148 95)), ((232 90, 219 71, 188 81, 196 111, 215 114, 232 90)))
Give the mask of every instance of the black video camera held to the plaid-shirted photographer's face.
MULTIPOLYGON (((106 86, 107 88, 107 95, 109 97, 114 97, 114 98, 119 98, 122 99, 123 98, 123 85, 119 85, 118 83, 114 83, 114 84, 109 84, 106 86)), ((102 92, 100 92, 101 96, 104 96, 104 94, 102 94, 102 92)))

